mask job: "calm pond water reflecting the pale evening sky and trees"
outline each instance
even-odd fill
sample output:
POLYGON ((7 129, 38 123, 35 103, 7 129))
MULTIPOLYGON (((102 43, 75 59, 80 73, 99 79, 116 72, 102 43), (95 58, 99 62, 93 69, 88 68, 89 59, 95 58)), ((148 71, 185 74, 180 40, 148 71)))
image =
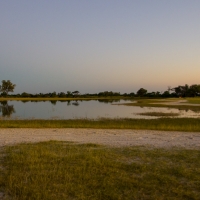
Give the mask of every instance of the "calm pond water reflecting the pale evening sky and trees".
POLYGON ((130 100, 107 101, 43 101, 0 102, 0 115, 3 119, 77 119, 77 118, 156 118, 138 115, 144 112, 179 113, 179 117, 199 117, 193 111, 180 111, 171 108, 149 108, 113 105, 116 103, 129 103, 130 100))

